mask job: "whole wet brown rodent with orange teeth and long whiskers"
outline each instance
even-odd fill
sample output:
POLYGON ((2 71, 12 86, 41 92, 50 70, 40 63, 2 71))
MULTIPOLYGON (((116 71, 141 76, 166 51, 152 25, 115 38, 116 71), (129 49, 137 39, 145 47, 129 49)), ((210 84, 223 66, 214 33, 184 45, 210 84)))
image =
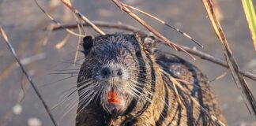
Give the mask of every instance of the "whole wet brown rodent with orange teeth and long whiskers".
POLYGON ((225 124, 205 75, 182 58, 158 50, 154 37, 86 36, 83 47, 77 126, 215 125, 190 96, 225 124), (177 87, 181 104, 168 76, 187 82, 181 82, 185 93, 177 87))

